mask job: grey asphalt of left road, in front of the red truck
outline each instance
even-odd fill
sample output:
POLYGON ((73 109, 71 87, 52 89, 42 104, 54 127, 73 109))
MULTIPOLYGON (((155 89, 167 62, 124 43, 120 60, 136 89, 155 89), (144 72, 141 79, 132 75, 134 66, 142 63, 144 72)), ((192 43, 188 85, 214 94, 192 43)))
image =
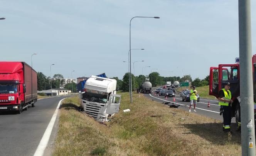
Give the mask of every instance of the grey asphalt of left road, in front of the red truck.
POLYGON ((33 156, 61 99, 40 99, 21 114, 0 112, 0 155, 33 156))

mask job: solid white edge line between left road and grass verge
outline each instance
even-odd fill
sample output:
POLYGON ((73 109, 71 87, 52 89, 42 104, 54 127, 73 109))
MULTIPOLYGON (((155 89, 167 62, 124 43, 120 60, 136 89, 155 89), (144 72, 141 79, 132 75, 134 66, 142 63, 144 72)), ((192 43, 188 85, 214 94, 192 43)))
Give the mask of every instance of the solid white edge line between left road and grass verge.
MULTIPOLYGON (((66 98, 64 98, 64 99, 66 99, 66 98)), ((44 155, 44 150, 45 150, 45 148, 48 144, 48 141, 50 139, 50 136, 51 136, 51 133, 52 133, 52 128, 54 126, 54 122, 56 120, 56 117, 57 117, 57 114, 58 114, 58 111, 59 111, 59 106, 61 106, 61 102, 64 99, 61 99, 61 101, 59 101, 59 104, 58 104, 56 110, 54 111, 54 113, 52 115, 52 119, 49 122, 39 145, 37 146, 37 150, 35 151, 34 156, 43 156, 44 155)))

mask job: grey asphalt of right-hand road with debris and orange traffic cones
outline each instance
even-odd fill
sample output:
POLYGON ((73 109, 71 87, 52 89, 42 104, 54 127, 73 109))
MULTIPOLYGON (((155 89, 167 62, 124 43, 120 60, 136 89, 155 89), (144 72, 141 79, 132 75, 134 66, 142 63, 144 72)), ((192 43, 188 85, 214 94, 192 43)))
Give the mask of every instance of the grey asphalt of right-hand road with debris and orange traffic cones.
MULTIPOLYGON (((144 94, 145 97, 149 98, 149 99, 153 99, 157 102, 161 102, 161 103, 165 103, 165 102, 170 102, 170 104, 174 104, 175 106, 179 106, 179 109, 183 109, 185 111, 189 111, 189 105, 190 102, 183 102, 182 101, 182 97, 180 97, 180 93, 176 92, 175 94, 175 102, 173 101, 174 98, 173 97, 167 97, 167 99, 164 96, 158 96, 158 94, 154 94, 155 90, 152 89, 152 94, 144 94)), ((199 93, 200 94, 200 93, 199 93)), ((220 106, 218 104, 217 100, 212 100, 212 99, 200 99, 199 102, 197 102, 196 105, 196 111, 194 112, 194 108, 191 108, 191 113, 196 113, 196 114, 200 114, 203 116, 207 116, 207 117, 211 117, 213 119, 217 119, 217 120, 223 120, 222 116, 219 115, 219 109, 220 106), (208 102, 210 102, 210 107, 207 107, 208 102)), ((232 122, 236 122, 234 117, 232 118, 232 122)))

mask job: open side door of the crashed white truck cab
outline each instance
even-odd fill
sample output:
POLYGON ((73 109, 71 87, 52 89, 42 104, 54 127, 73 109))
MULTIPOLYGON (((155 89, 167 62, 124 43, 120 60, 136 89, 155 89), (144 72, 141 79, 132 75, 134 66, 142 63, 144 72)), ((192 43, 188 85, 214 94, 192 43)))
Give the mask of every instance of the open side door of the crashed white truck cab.
POLYGON ((110 94, 106 114, 111 115, 119 112, 120 102, 121 102, 121 95, 110 94))

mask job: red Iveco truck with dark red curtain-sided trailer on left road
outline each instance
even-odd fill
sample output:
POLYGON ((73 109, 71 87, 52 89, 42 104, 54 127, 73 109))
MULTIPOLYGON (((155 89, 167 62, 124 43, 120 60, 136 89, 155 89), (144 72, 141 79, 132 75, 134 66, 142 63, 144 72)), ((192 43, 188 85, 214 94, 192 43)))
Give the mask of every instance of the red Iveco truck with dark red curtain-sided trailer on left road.
POLYGON ((25 62, 0 62, 0 111, 27 110, 37 101, 37 72, 25 62))

